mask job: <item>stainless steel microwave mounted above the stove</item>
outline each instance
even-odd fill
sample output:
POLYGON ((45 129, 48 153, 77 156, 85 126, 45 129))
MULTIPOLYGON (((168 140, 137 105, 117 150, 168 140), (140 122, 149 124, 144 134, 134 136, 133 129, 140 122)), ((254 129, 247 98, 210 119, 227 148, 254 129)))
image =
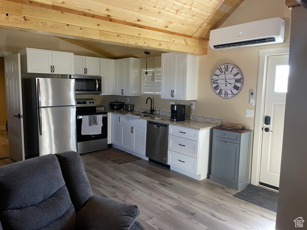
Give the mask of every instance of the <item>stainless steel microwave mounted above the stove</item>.
POLYGON ((101 77, 88 75, 66 75, 75 79, 76 94, 101 94, 101 77))

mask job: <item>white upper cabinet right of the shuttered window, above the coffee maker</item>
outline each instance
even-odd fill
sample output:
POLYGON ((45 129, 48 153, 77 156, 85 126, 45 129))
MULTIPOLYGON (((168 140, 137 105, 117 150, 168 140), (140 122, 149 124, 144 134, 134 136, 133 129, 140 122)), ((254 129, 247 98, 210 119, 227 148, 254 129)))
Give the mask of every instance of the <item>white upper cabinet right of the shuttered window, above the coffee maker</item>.
POLYGON ((161 98, 197 100, 198 56, 163 53, 161 98))

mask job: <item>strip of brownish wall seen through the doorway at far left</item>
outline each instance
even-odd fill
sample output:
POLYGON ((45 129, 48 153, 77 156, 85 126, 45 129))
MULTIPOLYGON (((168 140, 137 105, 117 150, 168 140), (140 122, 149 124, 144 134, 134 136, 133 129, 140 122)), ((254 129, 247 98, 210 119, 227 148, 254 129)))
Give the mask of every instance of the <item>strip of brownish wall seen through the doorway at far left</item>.
POLYGON ((0 108, 1 108, 0 126, 5 126, 6 124, 6 93, 5 93, 4 57, 0 57, 0 108))

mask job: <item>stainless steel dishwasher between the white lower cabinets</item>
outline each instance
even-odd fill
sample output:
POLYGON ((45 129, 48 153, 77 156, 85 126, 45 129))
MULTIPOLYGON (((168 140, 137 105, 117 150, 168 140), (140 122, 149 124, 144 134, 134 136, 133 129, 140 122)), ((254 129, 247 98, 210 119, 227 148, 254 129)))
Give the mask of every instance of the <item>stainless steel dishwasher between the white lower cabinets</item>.
POLYGON ((169 125, 147 121, 146 157, 167 164, 169 125))

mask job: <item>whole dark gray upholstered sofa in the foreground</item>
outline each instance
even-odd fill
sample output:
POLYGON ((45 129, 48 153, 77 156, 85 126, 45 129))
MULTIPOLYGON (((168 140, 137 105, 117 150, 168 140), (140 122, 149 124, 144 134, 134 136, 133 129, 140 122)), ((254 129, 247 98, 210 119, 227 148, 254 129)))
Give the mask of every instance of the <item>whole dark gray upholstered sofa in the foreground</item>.
POLYGON ((144 230, 138 215, 137 205, 93 196, 76 152, 0 167, 0 230, 144 230))

